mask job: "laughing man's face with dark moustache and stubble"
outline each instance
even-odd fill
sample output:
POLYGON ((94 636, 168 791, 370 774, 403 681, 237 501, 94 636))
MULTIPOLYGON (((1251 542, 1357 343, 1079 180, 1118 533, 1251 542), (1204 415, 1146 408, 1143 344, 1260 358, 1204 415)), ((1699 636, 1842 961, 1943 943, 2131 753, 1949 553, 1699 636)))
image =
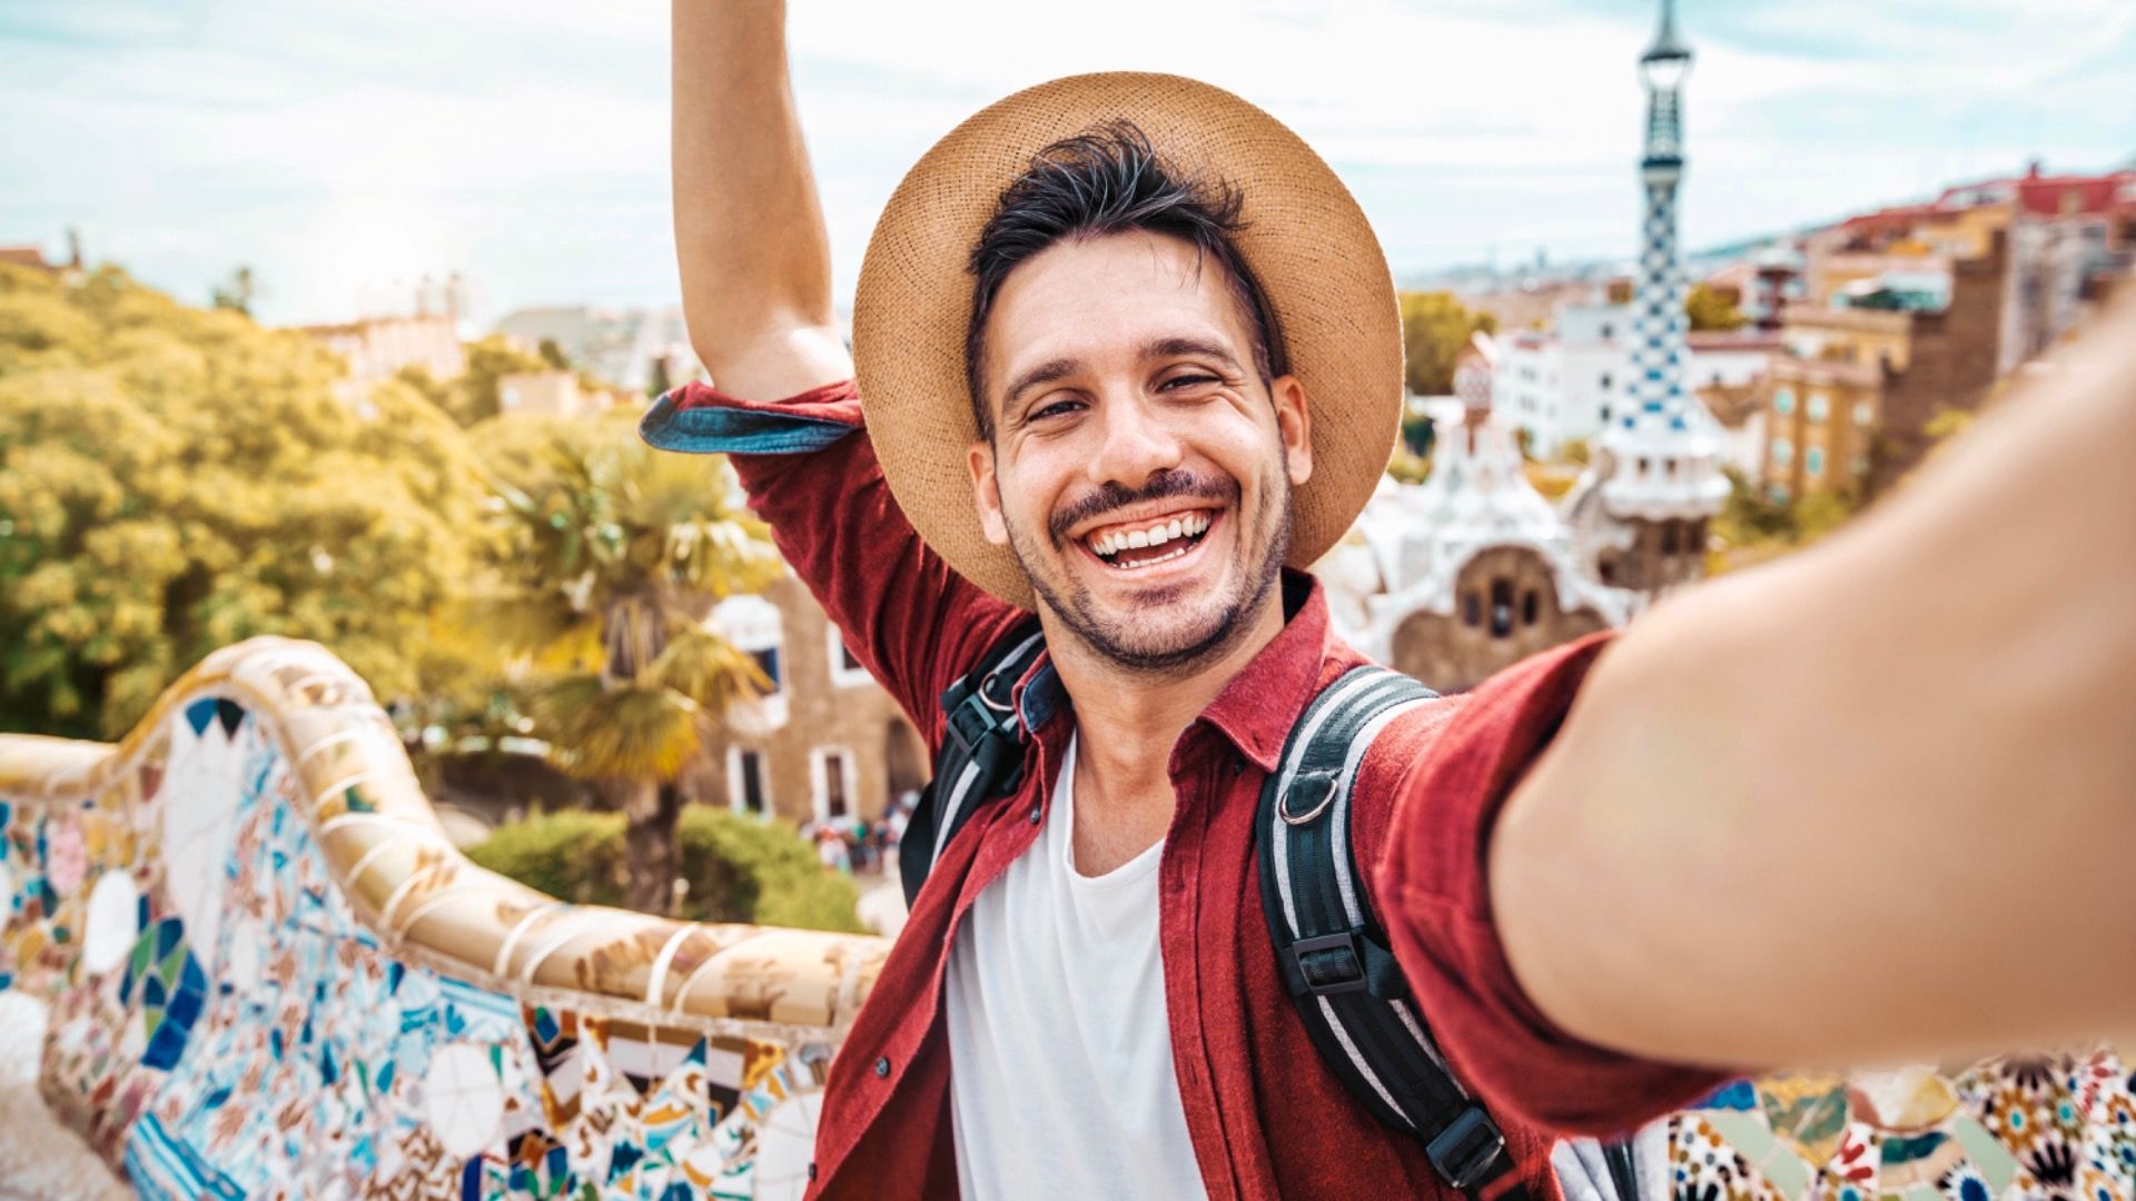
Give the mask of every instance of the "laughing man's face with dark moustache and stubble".
POLYGON ((980 524, 1106 658, 1194 665, 1267 603, 1312 474, 1305 391, 1262 383, 1224 267, 1151 233, 1064 241, 987 316, 980 524))

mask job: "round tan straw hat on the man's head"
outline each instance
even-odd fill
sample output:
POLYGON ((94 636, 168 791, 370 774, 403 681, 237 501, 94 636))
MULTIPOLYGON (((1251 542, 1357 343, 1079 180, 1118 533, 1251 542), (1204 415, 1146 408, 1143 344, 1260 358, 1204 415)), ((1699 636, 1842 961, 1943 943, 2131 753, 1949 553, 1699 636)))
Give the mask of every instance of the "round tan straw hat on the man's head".
POLYGON ((948 132, 897 186, 861 265, 852 357, 867 432, 897 504, 959 575, 1032 607, 972 506, 965 261, 1002 190, 1042 147, 1132 120, 1173 167, 1245 197, 1235 241, 1275 310, 1312 410, 1314 474, 1297 492, 1290 564, 1318 560, 1371 496, 1401 425, 1401 316, 1386 254, 1335 171, 1239 96, 1177 75, 1072 75, 948 132))

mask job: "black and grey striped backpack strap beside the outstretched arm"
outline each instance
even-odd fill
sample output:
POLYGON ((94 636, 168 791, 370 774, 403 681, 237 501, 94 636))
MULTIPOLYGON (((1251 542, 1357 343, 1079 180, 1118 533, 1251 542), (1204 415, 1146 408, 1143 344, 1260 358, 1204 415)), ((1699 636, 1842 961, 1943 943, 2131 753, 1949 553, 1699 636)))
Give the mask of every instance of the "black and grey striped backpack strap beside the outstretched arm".
MULTIPOLYGON (((1506 1135, 1433 1045, 1350 848, 1358 763, 1391 720, 1433 697, 1408 675, 1365 665, 1307 705, 1260 791, 1260 904, 1320 1058, 1380 1122, 1420 1139, 1448 1186, 1482 1197, 1512 1169, 1506 1135)), ((1497 1201, 1525 1197, 1514 1184, 1497 1201)))

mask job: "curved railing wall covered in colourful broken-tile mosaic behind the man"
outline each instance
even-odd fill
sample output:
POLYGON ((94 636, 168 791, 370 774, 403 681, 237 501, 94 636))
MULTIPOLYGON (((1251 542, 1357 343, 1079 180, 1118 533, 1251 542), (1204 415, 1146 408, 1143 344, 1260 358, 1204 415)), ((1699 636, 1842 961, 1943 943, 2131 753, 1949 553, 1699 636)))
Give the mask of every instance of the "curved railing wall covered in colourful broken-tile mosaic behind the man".
MULTIPOLYGON (((889 949, 474 868, 370 690, 280 639, 211 656, 117 748, 0 735, 0 987, 51 1002, 45 1098, 147 1197, 799 1197, 889 949)), ((1775 1075, 1649 1126, 1640 1180, 2123 1201, 2132 1090, 2108 1049, 1775 1075)), ((1572 1201, 1604 1188, 1557 1160, 1572 1201)))

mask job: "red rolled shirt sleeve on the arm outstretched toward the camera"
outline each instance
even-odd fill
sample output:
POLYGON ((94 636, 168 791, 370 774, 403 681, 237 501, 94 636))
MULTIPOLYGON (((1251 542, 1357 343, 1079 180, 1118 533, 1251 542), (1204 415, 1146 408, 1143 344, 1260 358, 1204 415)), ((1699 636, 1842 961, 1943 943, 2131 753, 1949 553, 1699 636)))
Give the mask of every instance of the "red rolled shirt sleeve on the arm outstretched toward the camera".
POLYGON ((1527 658, 1461 699, 1399 784, 1378 868, 1388 938, 1448 1062, 1489 1109, 1621 1135, 1728 1077, 1583 1043, 1521 992, 1491 915, 1491 827, 1608 635, 1527 658))

